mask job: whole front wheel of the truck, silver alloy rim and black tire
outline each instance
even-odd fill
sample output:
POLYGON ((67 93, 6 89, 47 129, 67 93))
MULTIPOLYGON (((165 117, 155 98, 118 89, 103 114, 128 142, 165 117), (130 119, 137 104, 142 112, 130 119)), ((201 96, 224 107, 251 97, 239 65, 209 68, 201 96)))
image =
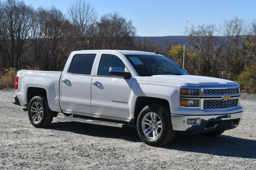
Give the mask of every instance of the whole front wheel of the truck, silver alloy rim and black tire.
POLYGON ((169 109, 158 104, 144 107, 138 115, 137 130, 141 140, 148 145, 168 144, 175 134, 169 109))

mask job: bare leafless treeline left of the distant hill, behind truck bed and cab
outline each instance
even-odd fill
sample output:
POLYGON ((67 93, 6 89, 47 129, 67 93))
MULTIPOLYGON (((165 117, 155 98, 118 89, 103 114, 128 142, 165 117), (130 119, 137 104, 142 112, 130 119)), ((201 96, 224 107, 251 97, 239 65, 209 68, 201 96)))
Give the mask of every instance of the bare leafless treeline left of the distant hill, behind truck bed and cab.
POLYGON ((55 7, 0 1, 0 68, 62 70, 71 51, 133 49, 135 34, 132 21, 118 13, 98 19, 84 0, 70 4, 67 16, 55 7))

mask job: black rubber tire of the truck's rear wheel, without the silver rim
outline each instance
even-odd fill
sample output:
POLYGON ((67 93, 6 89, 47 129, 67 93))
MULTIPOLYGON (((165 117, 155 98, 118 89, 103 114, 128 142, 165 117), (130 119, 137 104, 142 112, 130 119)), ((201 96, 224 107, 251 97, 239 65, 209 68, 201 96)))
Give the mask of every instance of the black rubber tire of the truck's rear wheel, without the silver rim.
POLYGON ((47 98, 45 96, 35 96, 30 100, 28 105, 28 118, 30 123, 36 128, 47 127, 48 125, 50 125, 50 123, 52 123, 53 114, 49 108, 47 98), (32 115, 34 114, 34 112, 31 112, 31 107, 35 102, 38 102, 42 107, 42 118, 40 119, 40 121, 34 121, 32 119, 32 115))

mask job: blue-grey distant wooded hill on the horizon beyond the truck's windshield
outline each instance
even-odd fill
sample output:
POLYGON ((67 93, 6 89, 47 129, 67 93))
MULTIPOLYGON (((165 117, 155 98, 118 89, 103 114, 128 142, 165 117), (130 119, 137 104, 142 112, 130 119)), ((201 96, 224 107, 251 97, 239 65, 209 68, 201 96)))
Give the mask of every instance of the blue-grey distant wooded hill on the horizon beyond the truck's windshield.
POLYGON ((160 45, 164 45, 165 42, 170 42, 174 45, 177 45, 178 43, 186 44, 188 42, 188 36, 162 36, 162 37, 140 37, 140 36, 135 36, 134 41, 136 43, 138 43, 139 39, 141 39, 141 41, 143 42, 144 38, 146 38, 146 40, 152 41, 153 43, 158 42, 160 45))

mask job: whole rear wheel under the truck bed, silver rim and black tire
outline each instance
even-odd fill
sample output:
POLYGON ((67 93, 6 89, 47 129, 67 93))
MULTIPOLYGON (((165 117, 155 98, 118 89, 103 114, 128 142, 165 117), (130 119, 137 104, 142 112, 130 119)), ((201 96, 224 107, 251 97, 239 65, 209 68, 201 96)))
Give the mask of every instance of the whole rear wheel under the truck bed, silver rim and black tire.
POLYGON ((37 128, 46 127, 52 123, 53 114, 45 96, 35 96, 31 99, 28 105, 28 118, 37 128))

